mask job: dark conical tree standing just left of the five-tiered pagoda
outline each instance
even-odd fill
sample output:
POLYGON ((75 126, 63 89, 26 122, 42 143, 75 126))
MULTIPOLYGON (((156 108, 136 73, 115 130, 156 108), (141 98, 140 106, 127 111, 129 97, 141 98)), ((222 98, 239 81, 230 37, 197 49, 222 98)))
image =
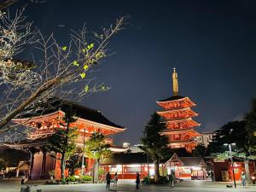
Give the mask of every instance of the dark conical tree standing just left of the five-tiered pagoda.
POLYGON ((154 182, 158 183, 160 179, 159 165, 160 160, 166 158, 166 152, 170 151, 168 148, 168 137, 160 134, 166 130, 166 124, 163 123, 160 115, 153 113, 148 124, 143 131, 141 138, 142 149, 154 160, 154 182))

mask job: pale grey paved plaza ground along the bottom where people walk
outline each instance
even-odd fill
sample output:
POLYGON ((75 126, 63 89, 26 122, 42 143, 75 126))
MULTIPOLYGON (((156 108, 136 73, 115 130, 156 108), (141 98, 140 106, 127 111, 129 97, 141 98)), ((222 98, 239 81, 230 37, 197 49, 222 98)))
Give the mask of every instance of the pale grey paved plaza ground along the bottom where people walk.
MULTIPOLYGON (((247 186, 245 189, 239 183, 236 189, 227 189, 226 183, 211 183, 209 181, 184 181, 178 183, 175 188, 167 185, 150 185, 142 186, 142 191, 145 192, 160 192, 160 191, 173 191, 173 192, 228 192, 228 191, 245 191, 255 192, 255 186, 247 186)), ((104 191, 136 191, 134 181, 120 181, 118 187, 112 187, 108 190, 105 184, 72 184, 72 185, 43 185, 40 183, 31 183, 32 192, 37 189, 42 189, 42 192, 104 192, 104 191)), ((0 181, 0 192, 20 192, 20 180, 3 180, 0 181)))

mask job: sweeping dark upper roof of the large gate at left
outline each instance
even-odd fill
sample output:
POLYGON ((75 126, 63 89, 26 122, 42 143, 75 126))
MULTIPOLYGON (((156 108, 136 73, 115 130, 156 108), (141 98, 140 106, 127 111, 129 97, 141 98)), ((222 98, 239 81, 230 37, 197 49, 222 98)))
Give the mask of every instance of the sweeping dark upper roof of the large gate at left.
POLYGON ((73 113, 81 119, 87 119, 102 125, 108 125, 125 130, 124 126, 116 125, 110 120, 108 120, 106 117, 104 117, 101 111, 92 108, 86 108, 76 102, 69 102, 60 99, 52 99, 49 102, 42 103, 38 106, 38 109, 34 111, 32 110, 32 108, 27 109, 27 111, 31 112, 22 113, 19 116, 17 116, 14 120, 17 121, 18 119, 38 118, 40 116, 47 114, 50 115, 58 111, 62 111, 63 113, 65 113, 68 108, 72 108, 73 113))

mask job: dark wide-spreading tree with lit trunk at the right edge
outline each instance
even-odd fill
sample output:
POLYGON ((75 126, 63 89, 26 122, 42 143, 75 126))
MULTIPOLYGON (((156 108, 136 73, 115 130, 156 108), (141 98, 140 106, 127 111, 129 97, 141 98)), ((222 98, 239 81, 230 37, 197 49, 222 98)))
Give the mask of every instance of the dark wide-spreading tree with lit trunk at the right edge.
MULTIPOLYGON (((253 103, 255 105, 255 103, 253 103)), ((256 109, 253 106, 254 110, 256 109)), ((250 172, 248 160, 255 160, 253 154, 253 127, 255 120, 254 112, 247 113, 246 120, 233 121, 216 131, 213 142, 209 144, 208 152, 212 153, 218 159, 228 160, 230 156, 244 161, 247 173, 247 181, 250 182, 250 172), (228 151, 229 148, 224 146, 224 143, 236 143, 232 146, 232 154, 228 151)))

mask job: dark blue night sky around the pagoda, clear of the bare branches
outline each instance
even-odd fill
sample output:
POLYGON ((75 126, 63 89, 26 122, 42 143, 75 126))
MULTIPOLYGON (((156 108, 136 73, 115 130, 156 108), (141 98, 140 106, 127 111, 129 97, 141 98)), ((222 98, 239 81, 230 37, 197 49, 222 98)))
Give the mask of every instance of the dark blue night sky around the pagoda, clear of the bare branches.
POLYGON ((150 114, 160 110, 156 101, 172 96, 172 67, 180 95, 197 104, 197 131, 214 131, 247 113, 256 96, 255 9, 256 1, 246 0, 51 0, 28 3, 26 15, 63 44, 69 29, 84 22, 100 32, 120 15, 131 16, 109 44, 115 54, 94 74, 112 89, 90 96, 84 105, 127 128, 115 143, 135 144, 150 114))

